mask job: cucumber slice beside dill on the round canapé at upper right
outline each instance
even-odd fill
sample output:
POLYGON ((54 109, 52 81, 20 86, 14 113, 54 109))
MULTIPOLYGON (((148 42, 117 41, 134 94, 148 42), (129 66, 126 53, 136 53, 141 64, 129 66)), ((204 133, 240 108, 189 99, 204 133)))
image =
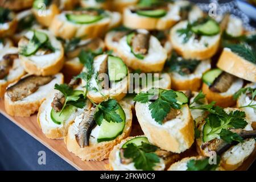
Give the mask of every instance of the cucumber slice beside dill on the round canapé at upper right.
POLYGON ((214 20, 208 20, 203 24, 192 27, 192 31, 200 35, 216 35, 220 32, 220 26, 214 20))

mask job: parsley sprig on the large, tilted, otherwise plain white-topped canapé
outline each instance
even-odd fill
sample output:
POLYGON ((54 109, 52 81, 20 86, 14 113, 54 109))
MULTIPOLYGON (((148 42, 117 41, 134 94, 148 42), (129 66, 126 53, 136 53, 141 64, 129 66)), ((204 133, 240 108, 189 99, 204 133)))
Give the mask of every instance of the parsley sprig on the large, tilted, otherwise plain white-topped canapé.
POLYGON ((149 109, 152 118, 160 125, 163 124, 163 119, 170 113, 171 108, 180 109, 181 105, 177 103, 177 94, 174 90, 164 90, 152 88, 147 92, 141 92, 134 97, 134 101, 147 103, 151 102, 149 109), (154 101, 153 101, 154 100, 154 101))

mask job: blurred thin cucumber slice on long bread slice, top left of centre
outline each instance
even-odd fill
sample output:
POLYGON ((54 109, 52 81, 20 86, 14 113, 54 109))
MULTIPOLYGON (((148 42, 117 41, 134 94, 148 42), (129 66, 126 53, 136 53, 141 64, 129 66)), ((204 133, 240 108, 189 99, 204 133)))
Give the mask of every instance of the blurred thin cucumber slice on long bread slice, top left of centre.
POLYGON ((94 15, 86 15, 86 14, 84 15, 67 14, 66 17, 70 22, 80 23, 80 24, 95 23, 103 18, 103 16, 101 15, 94 16, 94 15))

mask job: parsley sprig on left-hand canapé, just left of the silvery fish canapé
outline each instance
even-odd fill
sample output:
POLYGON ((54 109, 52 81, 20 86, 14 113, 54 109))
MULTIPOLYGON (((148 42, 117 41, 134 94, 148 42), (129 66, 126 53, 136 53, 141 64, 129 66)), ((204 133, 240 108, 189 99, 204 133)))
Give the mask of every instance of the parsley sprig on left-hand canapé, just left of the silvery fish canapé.
POLYGON ((72 105, 78 108, 82 108, 85 106, 85 97, 81 92, 75 92, 72 88, 70 88, 67 84, 55 84, 54 89, 59 90, 63 93, 65 97, 64 105, 60 111, 60 115, 66 106, 72 105))

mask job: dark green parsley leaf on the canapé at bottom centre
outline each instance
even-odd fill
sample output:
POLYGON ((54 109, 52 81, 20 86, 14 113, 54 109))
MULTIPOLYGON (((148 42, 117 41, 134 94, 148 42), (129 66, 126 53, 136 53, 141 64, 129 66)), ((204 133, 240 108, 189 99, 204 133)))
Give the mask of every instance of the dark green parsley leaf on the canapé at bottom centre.
POLYGON ((158 147, 149 143, 142 142, 141 146, 134 143, 127 144, 123 155, 127 159, 133 159, 134 167, 143 171, 152 171, 157 163, 160 162, 159 156, 155 152, 158 147))

